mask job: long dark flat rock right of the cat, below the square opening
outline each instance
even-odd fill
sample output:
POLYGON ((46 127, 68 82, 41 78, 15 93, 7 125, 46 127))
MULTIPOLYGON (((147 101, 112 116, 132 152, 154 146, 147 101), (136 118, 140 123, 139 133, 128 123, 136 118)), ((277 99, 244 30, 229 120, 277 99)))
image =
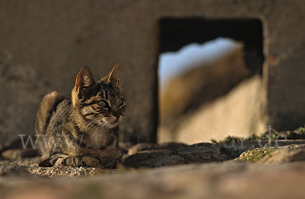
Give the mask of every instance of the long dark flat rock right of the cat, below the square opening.
MULTIPOLYGON (((142 143, 130 148, 128 154, 123 157, 123 163, 126 167, 156 168, 185 163, 224 161, 236 157, 231 156, 234 153, 230 153, 229 150, 222 145, 210 143, 191 146, 174 143, 167 145, 142 143)), ((245 150, 243 149, 240 153, 245 150)))

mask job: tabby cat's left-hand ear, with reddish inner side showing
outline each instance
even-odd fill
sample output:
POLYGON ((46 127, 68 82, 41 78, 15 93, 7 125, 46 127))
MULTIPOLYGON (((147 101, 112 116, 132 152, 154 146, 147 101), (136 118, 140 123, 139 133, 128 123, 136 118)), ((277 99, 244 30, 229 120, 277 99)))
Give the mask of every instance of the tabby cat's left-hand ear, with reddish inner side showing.
POLYGON ((75 91, 77 94, 83 94, 95 84, 91 70, 84 66, 78 73, 75 81, 75 91))

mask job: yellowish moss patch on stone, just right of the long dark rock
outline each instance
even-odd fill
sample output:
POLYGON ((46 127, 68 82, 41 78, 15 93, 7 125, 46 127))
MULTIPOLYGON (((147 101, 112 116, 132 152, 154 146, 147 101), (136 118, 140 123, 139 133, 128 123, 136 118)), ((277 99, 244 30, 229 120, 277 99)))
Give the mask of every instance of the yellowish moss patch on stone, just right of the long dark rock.
POLYGON ((240 154, 239 157, 235 158, 239 161, 256 162, 266 155, 274 152, 276 147, 267 148, 266 145, 263 148, 256 148, 252 150, 245 151, 240 154))

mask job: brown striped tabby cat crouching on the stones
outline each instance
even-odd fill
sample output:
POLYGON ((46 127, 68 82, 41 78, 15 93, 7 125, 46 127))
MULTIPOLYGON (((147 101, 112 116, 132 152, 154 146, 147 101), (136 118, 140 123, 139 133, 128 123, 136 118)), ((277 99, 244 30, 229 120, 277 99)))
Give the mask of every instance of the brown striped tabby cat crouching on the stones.
POLYGON ((44 96, 35 123, 39 166, 115 168, 121 157, 118 123, 125 111, 118 74, 119 62, 95 82, 85 66, 71 97, 56 91, 44 96))

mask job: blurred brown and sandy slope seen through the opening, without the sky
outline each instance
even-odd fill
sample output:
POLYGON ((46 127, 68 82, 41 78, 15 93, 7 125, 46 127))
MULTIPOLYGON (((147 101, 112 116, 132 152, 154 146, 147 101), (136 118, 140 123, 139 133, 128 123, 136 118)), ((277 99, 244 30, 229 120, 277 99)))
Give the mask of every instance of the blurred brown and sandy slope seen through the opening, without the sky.
POLYGON ((158 142, 193 144, 264 129, 261 75, 246 67, 243 46, 172 78, 160 94, 158 142))

